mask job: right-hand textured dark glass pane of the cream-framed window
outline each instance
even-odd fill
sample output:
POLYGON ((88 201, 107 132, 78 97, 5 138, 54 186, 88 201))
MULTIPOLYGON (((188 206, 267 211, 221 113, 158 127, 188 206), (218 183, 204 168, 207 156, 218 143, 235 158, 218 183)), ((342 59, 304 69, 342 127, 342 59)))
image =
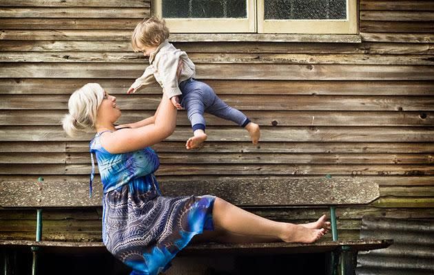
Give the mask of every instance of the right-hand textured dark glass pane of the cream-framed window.
POLYGON ((265 19, 347 19, 347 0, 265 0, 265 19))

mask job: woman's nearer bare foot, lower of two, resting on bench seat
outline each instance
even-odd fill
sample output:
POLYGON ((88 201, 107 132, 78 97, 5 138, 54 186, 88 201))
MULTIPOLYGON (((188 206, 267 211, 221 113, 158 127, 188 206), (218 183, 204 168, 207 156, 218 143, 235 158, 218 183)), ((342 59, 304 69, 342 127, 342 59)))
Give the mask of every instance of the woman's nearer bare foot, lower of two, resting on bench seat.
POLYGON ((324 228, 312 229, 302 225, 287 223, 285 233, 280 237, 287 243, 313 243, 324 236, 324 228))

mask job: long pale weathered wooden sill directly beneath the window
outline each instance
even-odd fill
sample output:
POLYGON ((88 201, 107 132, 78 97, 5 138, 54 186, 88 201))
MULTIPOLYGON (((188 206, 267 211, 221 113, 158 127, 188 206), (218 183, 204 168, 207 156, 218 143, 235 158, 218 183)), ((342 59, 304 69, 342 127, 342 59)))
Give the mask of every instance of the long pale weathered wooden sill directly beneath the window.
POLYGON ((359 34, 170 34, 170 42, 362 43, 359 34))

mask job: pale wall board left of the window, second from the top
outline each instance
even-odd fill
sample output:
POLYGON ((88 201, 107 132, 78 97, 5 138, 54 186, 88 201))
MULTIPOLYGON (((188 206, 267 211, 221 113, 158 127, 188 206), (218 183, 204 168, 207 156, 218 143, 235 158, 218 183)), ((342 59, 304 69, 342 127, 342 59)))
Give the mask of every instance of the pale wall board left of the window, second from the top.
MULTIPOLYGON (((3 4, 3 3, 2 3, 3 4)), ((46 7, 46 3, 44 3, 46 7)), ((115 18, 143 19, 149 8, 0 8, 1 18, 115 18)))

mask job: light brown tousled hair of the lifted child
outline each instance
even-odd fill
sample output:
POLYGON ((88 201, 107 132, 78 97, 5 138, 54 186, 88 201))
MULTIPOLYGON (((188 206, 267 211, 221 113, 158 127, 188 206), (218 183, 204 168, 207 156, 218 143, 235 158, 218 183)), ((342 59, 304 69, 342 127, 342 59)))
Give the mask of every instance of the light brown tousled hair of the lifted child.
POLYGON ((142 49, 137 46, 141 43, 145 46, 158 46, 169 38, 169 29, 166 27, 166 21, 158 17, 149 17, 143 19, 136 25, 132 34, 131 42, 134 52, 140 52, 142 49))

